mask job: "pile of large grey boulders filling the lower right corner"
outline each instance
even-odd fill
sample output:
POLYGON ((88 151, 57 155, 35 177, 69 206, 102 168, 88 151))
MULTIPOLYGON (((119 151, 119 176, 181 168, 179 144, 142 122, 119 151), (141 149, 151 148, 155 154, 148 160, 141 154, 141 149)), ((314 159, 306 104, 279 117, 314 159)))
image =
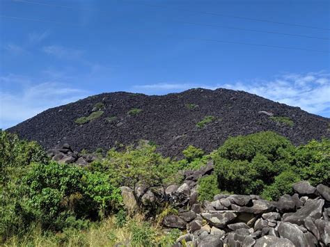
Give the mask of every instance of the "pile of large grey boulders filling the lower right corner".
POLYGON ((276 202, 219 194, 166 216, 163 224, 187 230, 175 246, 329 246, 330 188, 299 182, 293 189, 293 196, 276 202))

